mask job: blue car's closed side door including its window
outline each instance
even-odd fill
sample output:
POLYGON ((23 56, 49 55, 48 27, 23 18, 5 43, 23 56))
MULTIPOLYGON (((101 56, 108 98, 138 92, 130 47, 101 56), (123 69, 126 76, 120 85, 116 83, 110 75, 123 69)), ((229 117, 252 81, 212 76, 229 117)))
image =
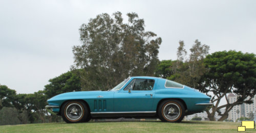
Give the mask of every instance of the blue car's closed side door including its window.
POLYGON ((125 88, 114 94, 115 112, 152 111, 154 86, 154 79, 133 79, 125 88))

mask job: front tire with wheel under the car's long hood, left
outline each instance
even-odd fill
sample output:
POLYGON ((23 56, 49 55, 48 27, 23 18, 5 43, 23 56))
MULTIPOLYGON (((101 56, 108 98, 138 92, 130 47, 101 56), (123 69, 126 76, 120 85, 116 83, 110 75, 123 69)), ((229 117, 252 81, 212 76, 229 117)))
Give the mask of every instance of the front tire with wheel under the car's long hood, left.
POLYGON ((81 101, 68 101, 61 106, 61 117, 67 123, 84 122, 89 114, 88 107, 81 101))

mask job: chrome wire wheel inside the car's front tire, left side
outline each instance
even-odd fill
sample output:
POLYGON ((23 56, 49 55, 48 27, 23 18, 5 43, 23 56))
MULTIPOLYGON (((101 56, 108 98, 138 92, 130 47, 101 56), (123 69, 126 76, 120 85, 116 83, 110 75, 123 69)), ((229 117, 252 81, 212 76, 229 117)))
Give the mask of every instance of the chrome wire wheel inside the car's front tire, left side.
POLYGON ((82 105, 74 102, 69 104, 65 109, 65 115, 71 121, 77 121, 83 116, 83 107, 82 105))

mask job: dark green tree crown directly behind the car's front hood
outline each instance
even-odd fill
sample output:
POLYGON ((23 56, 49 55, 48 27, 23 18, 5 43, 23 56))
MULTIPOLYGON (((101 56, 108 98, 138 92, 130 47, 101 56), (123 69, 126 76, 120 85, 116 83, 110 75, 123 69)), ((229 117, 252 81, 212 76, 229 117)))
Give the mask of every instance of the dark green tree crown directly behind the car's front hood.
POLYGON ((80 77, 77 74, 78 71, 79 70, 67 72, 50 79, 50 84, 45 85, 43 93, 45 93, 48 98, 51 98, 61 93, 81 91, 80 77))

